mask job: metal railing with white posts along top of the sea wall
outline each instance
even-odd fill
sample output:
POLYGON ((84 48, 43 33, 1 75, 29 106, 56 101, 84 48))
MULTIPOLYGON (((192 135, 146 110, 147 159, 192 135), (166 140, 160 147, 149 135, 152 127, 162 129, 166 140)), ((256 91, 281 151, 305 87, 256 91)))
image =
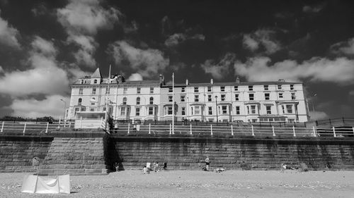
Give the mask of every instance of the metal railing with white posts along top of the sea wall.
MULTIPOLYGON (((104 126, 101 126, 104 129, 104 126)), ((2 134, 38 135, 52 130, 74 128, 72 122, 35 123, 35 122, 5 122, 0 123, 2 134)), ((83 129, 84 130, 84 129, 83 129)), ((210 137, 255 136, 255 137, 354 137, 353 126, 341 127, 279 127, 277 125, 153 125, 120 123, 109 131, 112 135, 202 135, 210 137)))

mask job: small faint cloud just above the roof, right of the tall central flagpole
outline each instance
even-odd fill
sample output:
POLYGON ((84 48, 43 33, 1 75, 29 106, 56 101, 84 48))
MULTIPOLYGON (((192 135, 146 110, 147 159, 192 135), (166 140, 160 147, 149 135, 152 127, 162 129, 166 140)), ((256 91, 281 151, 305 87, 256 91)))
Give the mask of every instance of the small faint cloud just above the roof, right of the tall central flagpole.
POLYGON ((229 74, 229 68, 232 67, 234 63, 235 55, 226 54, 219 63, 215 63, 213 60, 205 61, 201 67, 205 73, 210 73, 213 78, 222 79, 225 75, 229 74))

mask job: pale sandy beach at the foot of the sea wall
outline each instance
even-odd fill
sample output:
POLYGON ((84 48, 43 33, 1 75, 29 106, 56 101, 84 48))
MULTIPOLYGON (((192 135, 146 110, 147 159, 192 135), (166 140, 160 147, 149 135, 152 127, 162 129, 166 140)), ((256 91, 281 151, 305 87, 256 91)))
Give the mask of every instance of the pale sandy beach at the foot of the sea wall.
POLYGON ((71 194, 21 193, 28 173, 0 173, 0 197, 353 197, 350 171, 120 171, 71 176, 71 194))

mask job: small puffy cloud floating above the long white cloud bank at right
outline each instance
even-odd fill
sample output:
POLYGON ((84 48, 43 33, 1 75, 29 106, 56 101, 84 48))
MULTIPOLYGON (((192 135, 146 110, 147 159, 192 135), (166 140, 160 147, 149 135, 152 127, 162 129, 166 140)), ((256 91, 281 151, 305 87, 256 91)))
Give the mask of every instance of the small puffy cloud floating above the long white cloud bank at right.
POLYGON ((274 37, 275 31, 261 29, 253 34, 244 35, 243 44, 246 49, 250 49, 251 51, 256 51, 262 46, 265 54, 273 54, 282 48, 280 42, 274 37))

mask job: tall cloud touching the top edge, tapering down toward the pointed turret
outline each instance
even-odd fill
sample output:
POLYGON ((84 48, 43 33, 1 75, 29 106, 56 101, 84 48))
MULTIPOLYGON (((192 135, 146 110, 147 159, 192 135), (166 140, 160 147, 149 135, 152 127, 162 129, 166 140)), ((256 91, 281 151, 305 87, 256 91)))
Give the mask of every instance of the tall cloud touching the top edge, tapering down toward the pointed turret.
POLYGON ((93 55, 98 47, 93 36, 98 30, 110 30, 121 16, 116 8, 103 8, 99 0, 69 1, 65 8, 57 9, 57 19, 65 27, 69 37, 67 41, 80 49, 74 52, 76 63, 94 68, 93 55))

